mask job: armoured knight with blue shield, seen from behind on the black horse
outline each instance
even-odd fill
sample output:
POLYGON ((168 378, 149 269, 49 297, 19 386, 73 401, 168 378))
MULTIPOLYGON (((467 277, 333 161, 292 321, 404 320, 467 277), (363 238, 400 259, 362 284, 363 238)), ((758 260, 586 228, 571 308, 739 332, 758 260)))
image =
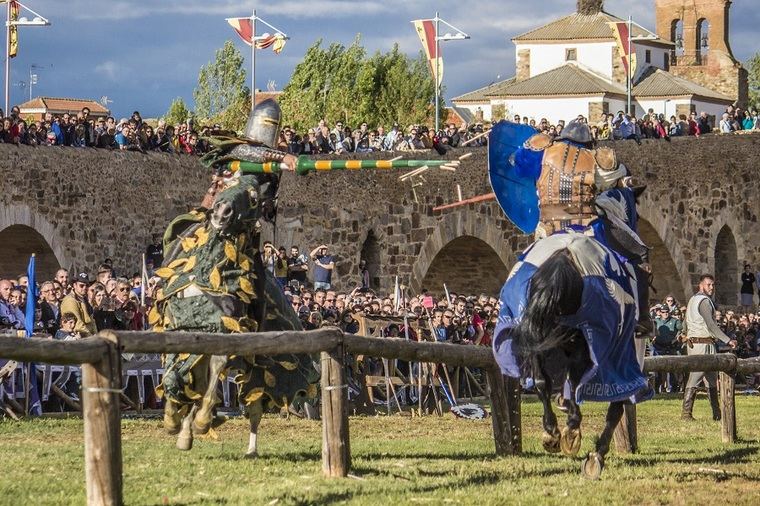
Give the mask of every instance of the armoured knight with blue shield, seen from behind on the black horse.
POLYGON ((585 229, 629 260, 637 274, 638 332, 648 333, 649 284, 642 268, 648 248, 636 231, 632 179, 615 152, 594 148, 588 125, 579 120, 554 139, 527 125, 505 123, 489 142, 491 183, 510 220, 537 239, 585 229))

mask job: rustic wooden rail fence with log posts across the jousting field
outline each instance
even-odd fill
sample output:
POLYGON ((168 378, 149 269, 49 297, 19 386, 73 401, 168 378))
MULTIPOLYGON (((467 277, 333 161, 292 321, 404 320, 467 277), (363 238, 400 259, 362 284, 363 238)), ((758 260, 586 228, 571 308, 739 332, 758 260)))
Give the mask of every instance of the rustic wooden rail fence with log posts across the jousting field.
MULTIPOLYGON (((55 364, 82 364, 82 398, 87 503, 122 504, 121 353, 200 353, 275 355, 321 353, 322 468, 327 476, 345 477, 350 469, 346 353, 485 370, 497 455, 522 451, 520 390, 517 380, 502 376, 489 348, 343 334, 337 329, 251 334, 101 332, 78 341, 0 337, 0 357, 55 364)), ((733 355, 648 357, 645 372, 720 371, 723 440, 736 438, 734 374, 760 372, 760 359, 733 355)), ((636 449, 635 406, 619 427, 619 447, 636 449)))

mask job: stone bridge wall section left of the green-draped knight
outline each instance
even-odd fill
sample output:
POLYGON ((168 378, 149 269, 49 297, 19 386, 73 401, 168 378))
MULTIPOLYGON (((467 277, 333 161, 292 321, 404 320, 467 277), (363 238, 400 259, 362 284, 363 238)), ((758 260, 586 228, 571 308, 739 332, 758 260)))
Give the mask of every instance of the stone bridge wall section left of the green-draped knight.
POLYGON ((195 158, 66 147, 0 144, 0 173, 0 231, 16 230, 12 245, 0 244, 16 247, 16 263, 0 255, 0 276, 17 275, 36 249, 23 248, 29 229, 63 268, 94 272, 112 258, 121 273, 138 270, 151 233, 198 204, 209 185, 195 158))

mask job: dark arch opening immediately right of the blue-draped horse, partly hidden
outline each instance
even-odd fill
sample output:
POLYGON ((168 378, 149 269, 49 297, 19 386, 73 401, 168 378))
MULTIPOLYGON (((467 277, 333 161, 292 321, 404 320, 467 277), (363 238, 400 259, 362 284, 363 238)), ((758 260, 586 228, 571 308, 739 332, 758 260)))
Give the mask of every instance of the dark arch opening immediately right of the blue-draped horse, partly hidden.
MULTIPOLYGON (((688 301, 687 292, 678 267, 673 260, 667 246, 660 238, 657 230, 647 220, 639 220, 639 236, 644 244, 649 246, 649 265, 652 268, 652 286, 650 288, 650 302, 661 301, 666 295, 672 294, 681 304, 688 301)), ((690 294, 689 294, 690 295, 690 294)))

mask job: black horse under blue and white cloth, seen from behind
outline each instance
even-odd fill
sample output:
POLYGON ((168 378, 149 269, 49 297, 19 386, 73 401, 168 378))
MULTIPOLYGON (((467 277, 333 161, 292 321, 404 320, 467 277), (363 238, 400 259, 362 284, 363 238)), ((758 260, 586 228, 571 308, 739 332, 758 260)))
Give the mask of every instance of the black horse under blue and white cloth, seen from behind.
MULTIPOLYGON (((588 240, 594 241, 590 238, 588 240)), ((541 241, 536 244, 540 243, 541 241)), ((518 268, 519 266, 516 266, 515 270, 518 268)), ((606 279, 601 286, 605 286, 604 283, 608 288, 614 286, 606 279)), ((576 402, 577 389, 583 383, 584 377, 588 380, 589 371, 595 365, 591 356, 593 348, 583 331, 578 326, 567 324, 568 318, 579 313, 582 304, 589 304, 589 297, 584 299, 584 289, 584 277, 573 254, 568 249, 554 251, 540 262, 530 276, 526 303, 524 307, 520 307, 522 314, 507 334, 512 341, 511 350, 519 364, 520 372, 524 377, 534 380, 536 392, 543 404, 544 449, 551 453, 561 451, 569 456, 577 455, 581 445, 582 414, 576 402), (552 408, 552 393, 555 385, 563 384, 565 392, 561 397, 561 405, 567 411, 567 422, 560 430, 552 408)), ((625 294, 620 290, 610 289, 609 293, 614 299, 623 301, 625 294)), ((588 295, 591 296, 591 293, 588 295)), ((631 303, 633 300, 629 298, 625 302, 631 303)), ((632 314, 633 311, 628 312, 623 318, 621 313, 621 319, 630 320, 634 318, 632 314)), ((628 325, 627 328, 632 328, 630 326, 633 326, 633 323, 628 322, 628 325)), ((624 331, 621 335, 629 336, 631 341, 625 344, 625 347, 630 346, 628 360, 625 361, 625 368, 630 372, 634 348, 633 332, 624 331)), ((600 339, 602 336, 597 333, 596 338, 600 339)), ((623 337, 621 341, 625 339, 623 337)), ((595 359, 597 362, 600 361, 598 354, 595 359)), ((601 361, 604 361, 604 358, 601 358, 601 361)), ((638 364, 634 364, 633 367, 640 368, 638 364)), ((620 397, 617 396, 618 399, 620 397)), ((601 476, 604 457, 609 451, 613 432, 623 415, 624 405, 630 402, 629 398, 610 402, 606 424, 596 442, 595 451, 590 452, 583 461, 582 471, 585 476, 592 479, 601 476)))

